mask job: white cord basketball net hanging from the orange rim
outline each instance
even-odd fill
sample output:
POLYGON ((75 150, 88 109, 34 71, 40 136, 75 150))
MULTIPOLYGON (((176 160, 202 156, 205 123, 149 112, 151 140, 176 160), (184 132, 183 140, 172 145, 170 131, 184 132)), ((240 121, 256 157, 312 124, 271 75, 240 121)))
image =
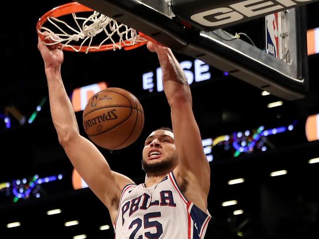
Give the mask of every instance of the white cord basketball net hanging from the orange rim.
POLYGON ((133 46, 138 42, 145 42, 144 38, 140 37, 137 31, 124 24, 118 24, 116 20, 109 18, 99 12, 94 11, 89 17, 77 17, 75 13, 72 13, 72 17, 78 27, 69 26, 62 20, 55 17, 48 18, 47 21, 57 27, 61 33, 55 33, 48 27, 41 27, 39 33, 44 35, 46 39, 50 38, 53 42, 45 43, 46 45, 61 44, 62 49, 64 47, 72 48, 75 52, 80 52, 84 44, 88 42, 86 53, 90 49, 100 49, 103 44, 113 44, 113 50, 121 49, 122 46, 133 46), (83 21, 80 25, 79 21, 83 21), (67 33, 63 28, 67 27, 74 34, 67 33), (44 32, 46 31, 46 32, 44 32), (91 46, 93 37, 97 34, 105 33, 104 40, 101 40, 99 45, 91 46), (74 45, 69 45, 72 42, 78 43, 77 48, 74 45), (107 42, 109 41, 109 42, 107 42))

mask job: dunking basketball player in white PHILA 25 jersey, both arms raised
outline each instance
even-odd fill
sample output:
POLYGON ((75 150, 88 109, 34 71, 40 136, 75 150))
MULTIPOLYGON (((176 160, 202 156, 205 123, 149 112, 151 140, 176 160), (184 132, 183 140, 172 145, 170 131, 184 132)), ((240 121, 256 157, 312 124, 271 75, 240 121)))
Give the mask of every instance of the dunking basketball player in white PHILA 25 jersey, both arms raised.
POLYGON ((108 208, 116 239, 203 239, 210 219, 210 168, 192 111, 189 85, 172 51, 151 42, 163 71, 173 130, 159 129, 145 140, 145 183, 136 185, 110 169, 92 142, 79 134, 61 79, 63 52, 43 44, 49 99, 58 140, 75 169, 108 208))

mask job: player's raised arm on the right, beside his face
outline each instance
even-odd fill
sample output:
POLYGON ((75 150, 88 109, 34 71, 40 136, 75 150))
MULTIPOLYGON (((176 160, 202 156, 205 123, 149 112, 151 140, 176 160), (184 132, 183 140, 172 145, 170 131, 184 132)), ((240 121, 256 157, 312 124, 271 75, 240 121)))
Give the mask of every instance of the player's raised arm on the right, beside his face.
POLYGON ((182 175, 191 175, 187 177, 196 182, 203 195, 207 196, 210 168, 193 114, 192 95, 185 74, 170 49, 152 43, 148 43, 148 49, 158 54, 163 72, 164 91, 171 107, 174 143, 179 157, 177 169, 182 175))

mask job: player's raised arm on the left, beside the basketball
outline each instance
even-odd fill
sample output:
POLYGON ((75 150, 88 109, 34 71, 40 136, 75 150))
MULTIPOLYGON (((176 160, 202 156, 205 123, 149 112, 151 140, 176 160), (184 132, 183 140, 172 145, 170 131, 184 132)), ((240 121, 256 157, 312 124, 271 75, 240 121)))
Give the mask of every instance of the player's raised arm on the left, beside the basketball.
POLYGON ((51 115, 59 143, 74 168, 109 209, 112 219, 115 219, 113 214, 117 212, 121 190, 133 182, 111 171, 109 164, 94 144, 79 134, 75 113, 60 74, 63 52, 47 47, 40 38, 38 49, 45 64, 51 115))

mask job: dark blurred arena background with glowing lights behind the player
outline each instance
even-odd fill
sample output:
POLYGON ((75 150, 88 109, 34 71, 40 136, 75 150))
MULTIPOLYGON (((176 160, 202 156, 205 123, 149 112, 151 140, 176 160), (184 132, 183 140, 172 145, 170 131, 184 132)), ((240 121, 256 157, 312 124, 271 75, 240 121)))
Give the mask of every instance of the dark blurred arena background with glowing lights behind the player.
MULTIPOLYGON (((3 19, 0 38, 1 239, 114 238, 108 210, 77 177, 50 115, 35 27, 45 12, 65 3, 4 3, 11 20, 3 19)), ((296 48, 308 48, 301 62, 308 61, 309 87, 299 99, 269 94, 249 79, 175 52, 190 83, 211 168, 212 218, 205 239, 318 237, 319 1, 303 7, 308 34, 296 48)), ((244 33, 241 40, 266 51, 264 21, 254 18, 225 30, 244 33)), ((171 127, 157 55, 145 46, 64 52, 61 73, 85 137, 81 96, 87 91, 120 87, 140 100, 145 126, 138 140, 121 150, 97 147, 114 171, 144 182, 145 137, 159 127, 171 127)))

